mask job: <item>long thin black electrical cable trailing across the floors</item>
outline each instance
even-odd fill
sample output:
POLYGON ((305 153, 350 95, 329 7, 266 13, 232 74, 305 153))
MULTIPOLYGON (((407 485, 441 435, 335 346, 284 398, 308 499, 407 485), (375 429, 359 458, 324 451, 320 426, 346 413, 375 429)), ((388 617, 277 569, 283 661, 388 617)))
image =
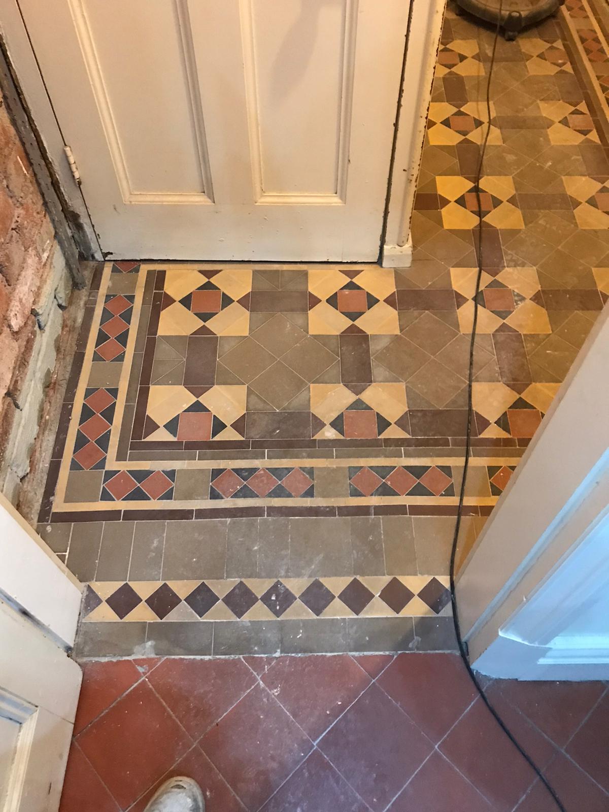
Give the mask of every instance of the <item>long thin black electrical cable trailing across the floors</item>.
POLYGON ((567 812, 565 809, 562 801, 560 801, 558 794, 556 793, 555 789, 552 787, 550 782, 546 779, 543 775, 540 768, 537 764, 533 761, 533 758, 529 756, 526 750, 516 741, 513 733, 508 728, 507 724, 503 721, 501 716, 499 715, 498 711, 490 703, 490 700, 487 698, 486 693, 482 690, 482 686, 477 680, 477 676, 474 674, 471 665, 469 664, 469 658, 467 650, 465 649, 465 644, 463 638, 461 637, 461 628, 459 623, 459 611, 457 609, 457 602, 456 602, 456 592, 455 592, 455 562, 456 562, 456 551, 457 551, 457 544, 459 542, 459 531, 461 528, 461 517, 463 515, 463 503, 465 498, 465 480, 467 478, 468 468, 469 468, 469 456, 471 453, 472 447, 472 417, 473 417, 473 404, 472 404, 472 391, 473 391, 473 356, 474 356, 474 348, 475 348, 475 341, 476 341, 476 327, 477 327, 477 317, 478 317, 478 294, 480 292, 480 283, 482 280, 482 201, 480 199, 480 182, 482 180, 482 165, 484 162, 484 154, 486 152, 486 144, 489 140, 490 135, 490 80, 493 76, 493 67, 495 66, 495 53, 497 50, 497 42, 499 40, 499 29, 501 28, 501 12, 502 12, 503 0, 499 0, 499 12, 497 15, 497 27, 495 28, 495 39, 493 41, 493 50, 490 54, 490 63, 489 63, 489 74, 486 80, 486 133, 484 136, 484 140, 482 141, 482 147, 480 149, 480 158, 478 160, 477 171, 476 171, 476 179, 475 179, 475 193, 476 193, 476 201, 478 207, 478 233, 477 233, 477 276, 476 276, 476 292, 473 298, 473 322, 472 322, 472 336, 469 342, 469 374, 468 374, 468 422, 467 422, 467 432, 465 435, 465 459, 464 459, 464 466, 463 466, 463 477, 461 479, 461 487, 459 491, 459 507, 457 508, 457 516, 455 522, 455 535, 452 539, 452 547, 451 547, 451 567, 450 567, 450 585, 451 585, 451 604, 452 604, 452 620, 455 624, 455 634, 457 645, 459 646, 459 654, 463 661, 464 667, 469 674, 469 679, 472 680, 474 687, 476 688, 477 692, 480 694, 482 698, 482 702, 486 705, 490 714, 495 719, 495 722, 499 725, 499 728, 503 730, 508 739, 512 742, 512 745, 516 747, 520 755, 525 759, 525 761, 529 764, 529 767, 538 775, 539 780, 542 782, 548 793, 550 793, 552 799, 555 801, 556 806, 559 808, 560 812, 567 812))

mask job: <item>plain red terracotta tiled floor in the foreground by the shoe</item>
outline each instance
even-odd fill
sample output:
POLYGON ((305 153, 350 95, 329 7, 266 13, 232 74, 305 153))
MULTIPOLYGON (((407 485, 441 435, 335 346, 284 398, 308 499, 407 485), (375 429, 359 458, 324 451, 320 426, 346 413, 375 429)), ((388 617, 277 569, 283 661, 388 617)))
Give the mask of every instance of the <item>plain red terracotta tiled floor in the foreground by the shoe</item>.
MULTIPOLYGON (((602 683, 486 690, 568 812, 609 808, 602 683)), ((166 777, 207 812, 554 812, 454 654, 84 665, 60 812, 143 812, 166 777)))

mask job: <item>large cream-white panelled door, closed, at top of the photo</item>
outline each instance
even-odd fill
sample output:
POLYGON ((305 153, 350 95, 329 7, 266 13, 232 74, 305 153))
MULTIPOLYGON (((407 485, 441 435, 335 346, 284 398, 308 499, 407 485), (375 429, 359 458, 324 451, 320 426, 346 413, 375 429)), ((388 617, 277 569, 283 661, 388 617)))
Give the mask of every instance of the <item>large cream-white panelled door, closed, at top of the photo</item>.
POLYGON ((19 0, 111 257, 374 261, 408 0, 19 0))

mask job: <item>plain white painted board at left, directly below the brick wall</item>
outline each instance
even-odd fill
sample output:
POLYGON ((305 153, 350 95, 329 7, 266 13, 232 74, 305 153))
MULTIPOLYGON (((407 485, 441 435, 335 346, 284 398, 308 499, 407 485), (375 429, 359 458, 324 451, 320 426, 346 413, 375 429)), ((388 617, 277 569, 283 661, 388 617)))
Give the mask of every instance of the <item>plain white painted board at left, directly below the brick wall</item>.
POLYGON ((79 581, 0 494, 0 598, 72 646, 80 611, 79 581))

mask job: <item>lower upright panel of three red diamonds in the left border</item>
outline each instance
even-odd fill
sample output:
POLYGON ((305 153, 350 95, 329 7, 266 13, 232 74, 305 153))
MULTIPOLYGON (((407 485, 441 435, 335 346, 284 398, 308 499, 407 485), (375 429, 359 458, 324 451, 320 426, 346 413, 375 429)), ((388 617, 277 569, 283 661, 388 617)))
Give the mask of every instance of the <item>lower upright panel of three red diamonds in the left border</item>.
POLYGON ((119 390, 113 387, 89 388, 84 391, 83 408, 80 412, 74 454, 70 463, 71 470, 89 471, 105 468, 118 392, 119 390))

